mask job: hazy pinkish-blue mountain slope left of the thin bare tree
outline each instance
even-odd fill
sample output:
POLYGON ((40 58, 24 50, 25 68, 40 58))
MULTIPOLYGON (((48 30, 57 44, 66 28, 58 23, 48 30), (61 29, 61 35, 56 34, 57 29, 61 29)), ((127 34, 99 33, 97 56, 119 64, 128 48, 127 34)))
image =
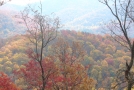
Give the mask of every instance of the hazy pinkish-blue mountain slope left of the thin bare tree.
POLYGON ((24 33, 24 25, 21 24, 20 19, 15 17, 16 14, 15 11, 0 10, 0 37, 24 33))

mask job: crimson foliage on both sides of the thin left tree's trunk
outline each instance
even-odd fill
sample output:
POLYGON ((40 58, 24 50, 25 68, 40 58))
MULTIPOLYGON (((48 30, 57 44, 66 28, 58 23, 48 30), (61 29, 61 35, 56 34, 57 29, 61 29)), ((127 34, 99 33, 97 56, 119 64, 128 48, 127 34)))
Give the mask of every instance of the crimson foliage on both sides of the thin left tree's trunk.
MULTIPOLYGON (((46 88, 50 88, 52 83, 51 79, 54 77, 54 73, 57 71, 54 62, 50 58, 45 58, 42 61, 44 69, 44 77, 46 82, 46 88)), ((42 87, 42 73, 41 67, 38 62, 30 60, 27 64, 24 64, 25 68, 21 68, 19 71, 14 71, 18 78, 24 78, 28 83, 28 89, 41 89, 42 87)))

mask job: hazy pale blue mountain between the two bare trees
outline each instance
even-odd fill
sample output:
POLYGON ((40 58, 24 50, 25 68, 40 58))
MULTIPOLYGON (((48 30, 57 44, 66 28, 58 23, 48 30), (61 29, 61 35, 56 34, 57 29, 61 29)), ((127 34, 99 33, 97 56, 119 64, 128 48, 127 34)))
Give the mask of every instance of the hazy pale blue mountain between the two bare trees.
POLYGON ((106 8, 92 9, 90 11, 82 8, 67 8, 56 13, 64 29, 101 33, 100 23, 109 21, 112 15, 106 8))

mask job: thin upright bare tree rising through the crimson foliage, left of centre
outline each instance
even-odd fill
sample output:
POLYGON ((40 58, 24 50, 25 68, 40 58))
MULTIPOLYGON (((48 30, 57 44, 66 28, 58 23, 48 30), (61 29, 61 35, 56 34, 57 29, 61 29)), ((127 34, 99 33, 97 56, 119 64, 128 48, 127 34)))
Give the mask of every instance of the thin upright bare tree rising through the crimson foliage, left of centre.
POLYGON ((34 52, 32 58, 37 61, 41 68, 42 87, 45 90, 46 77, 43 69, 42 60, 45 55, 46 46, 56 38, 59 28, 59 19, 42 15, 42 4, 40 3, 39 10, 34 10, 31 6, 21 12, 22 19, 27 27, 27 36, 31 42, 31 47, 34 52))

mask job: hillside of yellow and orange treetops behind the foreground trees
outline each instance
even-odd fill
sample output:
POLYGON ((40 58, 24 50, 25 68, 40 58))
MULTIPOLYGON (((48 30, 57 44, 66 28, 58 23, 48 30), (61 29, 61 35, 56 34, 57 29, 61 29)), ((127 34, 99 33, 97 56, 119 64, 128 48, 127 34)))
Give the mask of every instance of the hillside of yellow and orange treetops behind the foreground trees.
MULTIPOLYGON (((50 55, 53 53, 51 50, 58 38, 62 38, 70 44, 72 42, 82 44, 85 55, 80 63, 85 67, 88 66, 88 76, 94 80, 93 87, 97 89, 107 90, 115 84, 116 71, 118 68, 125 67, 126 60, 130 60, 129 51, 122 48, 117 42, 110 40, 109 35, 94 35, 74 30, 59 31, 57 39, 47 46, 46 53, 50 55)), ((5 43, 1 45, 0 49, 0 70, 12 76, 15 70, 25 68, 26 63, 30 60, 26 53, 29 41, 25 35, 13 36, 6 40, 1 39, 2 41, 5 43)), ((14 82, 20 88, 26 87, 21 79, 14 79, 14 82)))

